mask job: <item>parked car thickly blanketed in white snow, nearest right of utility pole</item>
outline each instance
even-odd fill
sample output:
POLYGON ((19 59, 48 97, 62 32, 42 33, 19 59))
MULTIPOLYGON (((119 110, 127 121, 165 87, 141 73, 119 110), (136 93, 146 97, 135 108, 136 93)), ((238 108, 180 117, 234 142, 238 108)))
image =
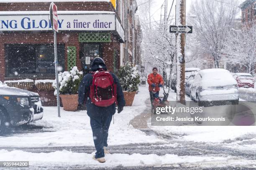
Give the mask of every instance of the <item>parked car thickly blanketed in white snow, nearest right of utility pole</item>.
POLYGON ((233 105, 239 102, 237 82, 225 69, 201 70, 195 76, 190 92, 191 99, 198 101, 200 106, 214 101, 230 101, 233 105))

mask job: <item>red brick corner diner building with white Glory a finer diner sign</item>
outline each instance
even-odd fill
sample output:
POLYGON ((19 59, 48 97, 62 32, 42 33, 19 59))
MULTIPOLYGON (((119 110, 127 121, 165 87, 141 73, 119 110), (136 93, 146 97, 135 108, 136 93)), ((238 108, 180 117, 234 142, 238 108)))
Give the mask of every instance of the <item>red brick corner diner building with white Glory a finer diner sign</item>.
MULTIPOLYGON (((51 0, 0 1, 1 81, 55 79, 50 3, 51 0)), ((55 0, 55 4, 62 71, 77 66, 87 73, 93 58, 100 56, 109 70, 117 72, 126 55, 125 0, 55 0)), ((49 99, 44 105, 56 105, 53 92, 36 87, 33 91, 49 99)))

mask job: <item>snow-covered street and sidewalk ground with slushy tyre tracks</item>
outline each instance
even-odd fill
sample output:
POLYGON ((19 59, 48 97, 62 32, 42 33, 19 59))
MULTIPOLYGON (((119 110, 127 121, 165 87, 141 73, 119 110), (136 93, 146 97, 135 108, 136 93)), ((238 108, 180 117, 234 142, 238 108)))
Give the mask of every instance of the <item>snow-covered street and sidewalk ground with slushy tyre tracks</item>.
POLYGON ((86 111, 61 110, 59 118, 56 107, 44 107, 42 120, 0 137, 1 161, 30 161, 32 169, 256 168, 255 126, 133 128, 133 117, 150 114, 147 88, 139 87, 133 106, 115 114, 106 163, 92 159, 95 148, 86 111))

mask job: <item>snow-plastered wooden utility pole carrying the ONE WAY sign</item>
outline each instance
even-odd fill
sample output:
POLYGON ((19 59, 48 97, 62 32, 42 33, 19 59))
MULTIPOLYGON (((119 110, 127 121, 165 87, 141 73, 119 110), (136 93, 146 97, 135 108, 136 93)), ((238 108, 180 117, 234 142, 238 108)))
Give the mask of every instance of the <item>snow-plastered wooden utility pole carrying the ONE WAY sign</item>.
MULTIPOLYGON (((176 0, 176 5, 176 25, 186 25, 186 0, 176 0)), ((176 60, 177 101, 185 104, 185 34, 182 33, 176 36, 176 60)))

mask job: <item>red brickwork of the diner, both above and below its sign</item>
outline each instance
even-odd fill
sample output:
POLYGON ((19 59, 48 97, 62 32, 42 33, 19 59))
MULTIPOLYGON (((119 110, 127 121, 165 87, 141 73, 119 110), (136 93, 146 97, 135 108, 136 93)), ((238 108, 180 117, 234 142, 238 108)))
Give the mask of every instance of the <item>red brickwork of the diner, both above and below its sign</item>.
MULTIPOLYGON (((114 11, 113 5, 110 2, 56 2, 58 10, 104 10, 114 11)), ((33 11, 33 10, 49 10, 50 2, 37 2, 37 3, 0 3, 0 11, 33 11)), ((79 70, 82 70, 82 65, 79 58, 80 43, 78 41, 79 32, 74 31, 61 31, 57 33, 57 42, 65 45, 65 70, 67 70, 67 47, 76 47, 76 65, 79 70)), ((43 76, 42 78, 34 77, 6 77, 5 76, 5 45, 6 44, 53 44, 53 32, 52 31, 20 31, 20 32, 1 32, 0 33, 0 80, 18 80, 21 78, 30 78, 33 80, 41 79, 55 79, 55 76, 51 77, 43 76)), ((114 62, 114 50, 117 50, 120 56, 120 42, 111 33, 111 42, 102 43, 103 59, 106 62, 108 70, 113 71, 114 62)), ((118 59, 117 66, 120 67, 120 59, 118 59)), ((56 106, 56 96, 54 91, 41 91, 36 87, 31 90, 37 92, 41 99, 44 101, 45 106, 56 106)))

